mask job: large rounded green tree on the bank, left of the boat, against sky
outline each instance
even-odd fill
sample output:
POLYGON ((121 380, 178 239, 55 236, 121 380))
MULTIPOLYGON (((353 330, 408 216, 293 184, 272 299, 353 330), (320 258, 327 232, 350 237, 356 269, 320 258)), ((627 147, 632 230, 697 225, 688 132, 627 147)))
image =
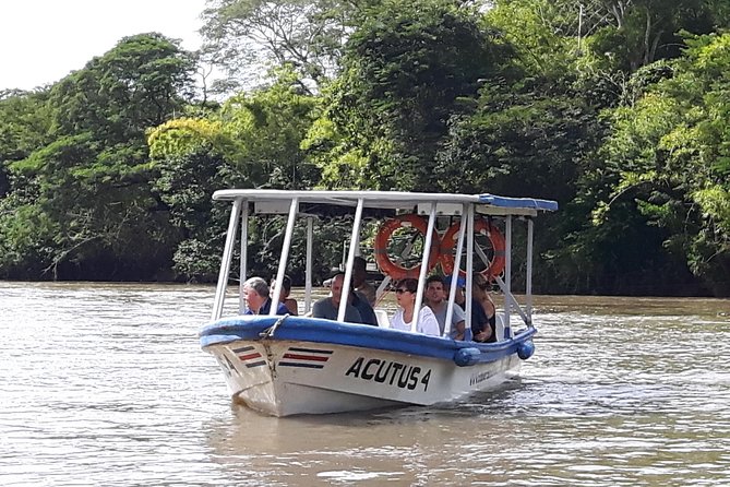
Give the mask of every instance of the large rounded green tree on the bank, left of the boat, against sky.
POLYGON ((51 87, 52 141, 9 165, 0 216, 9 264, 95 280, 154 278, 169 268, 177 237, 149 186, 144 131, 183 106, 191 60, 160 35, 133 36, 51 87), (32 240, 12 230, 14 210, 32 240))

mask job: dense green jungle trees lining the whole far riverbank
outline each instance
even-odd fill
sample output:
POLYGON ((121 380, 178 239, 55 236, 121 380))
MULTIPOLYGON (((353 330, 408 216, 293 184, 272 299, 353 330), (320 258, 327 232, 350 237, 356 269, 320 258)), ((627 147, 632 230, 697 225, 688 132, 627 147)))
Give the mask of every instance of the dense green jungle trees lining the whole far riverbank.
MULTIPOLYGON (((202 15, 199 52, 140 34, 0 92, 0 278, 205 282, 227 222, 215 189, 397 189, 557 200, 537 222, 539 293, 730 296, 727 0, 202 15)), ((315 231, 321 277, 346 234, 315 231)), ((270 275, 282 222, 250 235, 270 275)))

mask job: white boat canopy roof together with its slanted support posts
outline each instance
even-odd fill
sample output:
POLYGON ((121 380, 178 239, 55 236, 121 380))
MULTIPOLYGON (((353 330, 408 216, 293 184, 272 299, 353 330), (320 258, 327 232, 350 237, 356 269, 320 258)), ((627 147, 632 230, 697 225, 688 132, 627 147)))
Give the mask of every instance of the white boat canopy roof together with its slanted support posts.
MULTIPOLYGON (((311 309, 311 290, 312 290, 312 240, 313 240, 313 215, 307 212, 301 212, 301 204, 318 205, 340 205, 354 209, 352 229, 350 235, 350 246, 347 254, 347 262, 345 265, 345 276, 343 283, 343 298, 340 299, 339 308, 337 310, 337 321, 344 321, 347 306, 347 293, 350 289, 352 282, 352 269, 355 257, 359 254, 360 242, 360 227, 363 221, 363 211, 366 207, 379 210, 405 210, 418 211, 421 214, 428 212, 428 225, 426 227, 426 235, 423 236, 423 252, 418 272, 419 286, 416 293, 416 308, 420 309, 424 296, 424 283, 429 272, 429 262, 431 261, 430 253, 433 251, 432 242, 434 241, 434 234, 436 227, 438 216, 444 215, 444 212, 450 212, 452 216, 460 216, 460 228, 458 229, 458 239, 456 241, 454 266, 452 270, 452 282, 456 283, 459 273, 462 273, 462 254, 466 247, 466 262, 465 269, 475 269, 475 256, 479 258, 484 264, 489 265, 490 261, 486 252, 475 245, 475 218, 478 215, 491 215, 493 217, 504 218, 505 222, 505 266, 503 277, 496 275, 492 276, 498 284, 500 290, 504 296, 504 329, 505 334, 510 334, 511 311, 515 310, 525 324, 531 326, 531 272, 532 272, 532 216, 538 211, 554 211, 557 204, 544 200, 534 199, 510 199, 503 197, 492 195, 465 195, 465 194, 439 194, 439 193, 402 193, 402 192, 386 192, 386 191, 278 191, 278 190, 224 190, 218 191, 214 195, 216 200, 232 201, 232 209, 230 219, 228 222, 227 238, 224 247, 224 256, 222 259, 220 272, 218 274, 216 297, 212 311, 212 319, 220 318, 224 307, 225 289, 228 283, 230 273, 234 246, 237 239, 238 225, 240 229, 240 286, 243 286, 246 276, 248 275, 247 260, 248 260, 248 226, 250 218, 250 203, 253 204, 254 212, 261 210, 260 213, 265 214, 287 214, 287 226, 284 234, 284 241, 279 254, 278 269, 276 273, 276 282, 282 283, 289 259, 289 249, 294 238, 294 229, 298 216, 307 217, 307 249, 306 249, 306 311, 311 309), (527 265, 526 265, 526 289, 525 302, 520 306, 512 293, 512 225, 513 217, 518 217, 527 222, 527 265), (467 238, 468 237, 468 238, 467 238)), ((414 248, 414 242, 409 242, 404 249, 404 254, 410 254, 414 248)), ((471 272, 466 272, 466 318, 467 328, 469 326, 471 316, 471 288, 474 275, 471 272)), ((386 286, 391 281, 390 276, 385 276, 379 286, 379 296, 385 292, 386 286)), ((272 301, 278 302, 282 288, 279 285, 273 289, 272 301)), ((453 318, 453 304, 455 302, 456 286, 451 286, 448 294, 448 308, 446 314, 446 326, 444 335, 448 336, 453 318)), ((239 289, 239 312, 243 309, 242 289, 239 289)), ((272 314, 276 312, 276 307, 272 306, 270 311, 272 314)), ((418 325, 418 313, 411 322, 411 330, 416 331, 418 325)))

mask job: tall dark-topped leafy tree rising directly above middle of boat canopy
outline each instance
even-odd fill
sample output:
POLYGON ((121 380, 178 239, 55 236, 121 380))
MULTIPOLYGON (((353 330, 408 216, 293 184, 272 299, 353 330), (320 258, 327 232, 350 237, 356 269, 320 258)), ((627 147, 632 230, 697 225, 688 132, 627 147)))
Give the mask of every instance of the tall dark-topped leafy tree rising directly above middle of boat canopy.
POLYGON ((307 146, 325 185, 433 188, 447 120, 474 105, 507 48, 456 2, 384 2, 349 38, 307 146))

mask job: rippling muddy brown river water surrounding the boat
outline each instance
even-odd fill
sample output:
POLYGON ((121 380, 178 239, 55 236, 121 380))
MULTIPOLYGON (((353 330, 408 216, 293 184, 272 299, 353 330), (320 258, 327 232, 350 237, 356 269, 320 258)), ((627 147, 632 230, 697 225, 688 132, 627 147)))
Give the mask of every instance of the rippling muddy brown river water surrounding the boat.
POLYGON ((0 283, 0 485, 730 484, 727 300, 540 297, 498 391, 277 419, 200 351, 212 296, 0 283))

